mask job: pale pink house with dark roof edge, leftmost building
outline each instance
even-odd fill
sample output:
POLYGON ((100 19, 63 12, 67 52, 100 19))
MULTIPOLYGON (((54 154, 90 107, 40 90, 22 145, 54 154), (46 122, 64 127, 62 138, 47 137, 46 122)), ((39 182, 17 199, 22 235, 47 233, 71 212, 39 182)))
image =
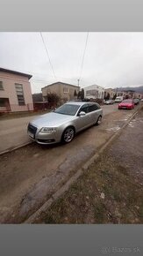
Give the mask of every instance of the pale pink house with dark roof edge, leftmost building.
POLYGON ((33 110, 29 74, 0 68, 0 112, 33 110))

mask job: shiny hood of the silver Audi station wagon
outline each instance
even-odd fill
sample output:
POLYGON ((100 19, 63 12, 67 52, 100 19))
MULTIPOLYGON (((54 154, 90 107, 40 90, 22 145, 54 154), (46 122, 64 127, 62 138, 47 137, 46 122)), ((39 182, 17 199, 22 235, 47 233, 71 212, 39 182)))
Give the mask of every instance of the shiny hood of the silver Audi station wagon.
POLYGON ((68 115, 52 112, 52 113, 47 113, 45 115, 41 115, 37 118, 34 118, 30 123, 39 128, 56 127, 74 119, 75 119, 75 116, 68 116, 68 115))

